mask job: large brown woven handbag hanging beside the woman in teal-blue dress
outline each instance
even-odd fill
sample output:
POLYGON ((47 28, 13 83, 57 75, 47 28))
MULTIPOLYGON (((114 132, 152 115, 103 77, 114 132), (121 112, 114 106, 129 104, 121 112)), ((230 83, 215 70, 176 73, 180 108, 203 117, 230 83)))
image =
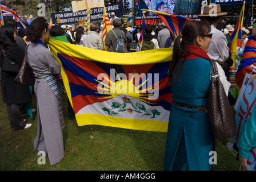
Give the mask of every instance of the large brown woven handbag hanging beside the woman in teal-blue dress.
POLYGON ((219 79, 215 60, 211 60, 211 85, 207 113, 215 139, 227 139, 236 134, 235 115, 219 79))

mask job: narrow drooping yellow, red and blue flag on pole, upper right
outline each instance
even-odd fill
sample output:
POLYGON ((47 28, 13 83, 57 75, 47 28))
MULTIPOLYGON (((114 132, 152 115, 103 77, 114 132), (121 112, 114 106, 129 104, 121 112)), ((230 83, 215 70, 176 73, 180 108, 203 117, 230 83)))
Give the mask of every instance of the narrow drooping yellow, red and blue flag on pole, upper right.
POLYGON ((243 1, 243 7, 239 14, 237 24, 235 24, 234 31, 230 36, 231 44, 229 48, 229 55, 233 59, 234 63, 230 68, 235 68, 235 62, 237 60, 237 48, 241 47, 242 28, 243 28, 243 14, 245 13, 245 1, 243 1))

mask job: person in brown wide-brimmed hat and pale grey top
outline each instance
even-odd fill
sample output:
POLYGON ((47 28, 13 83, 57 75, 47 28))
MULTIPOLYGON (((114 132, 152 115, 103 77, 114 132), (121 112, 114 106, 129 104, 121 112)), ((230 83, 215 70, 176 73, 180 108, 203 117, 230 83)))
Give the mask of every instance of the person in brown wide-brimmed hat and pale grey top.
POLYGON ((205 20, 211 24, 210 33, 213 34, 213 37, 211 38, 211 44, 209 46, 209 52, 207 53, 207 55, 211 59, 217 61, 222 66, 229 57, 229 47, 227 47, 226 36, 223 34, 222 31, 218 30, 216 27, 221 17, 226 14, 227 13, 221 12, 221 6, 217 4, 205 6, 203 9, 203 14, 198 15, 201 17, 201 20, 205 20), (217 12, 212 10, 214 8, 213 6, 217 6, 217 12))

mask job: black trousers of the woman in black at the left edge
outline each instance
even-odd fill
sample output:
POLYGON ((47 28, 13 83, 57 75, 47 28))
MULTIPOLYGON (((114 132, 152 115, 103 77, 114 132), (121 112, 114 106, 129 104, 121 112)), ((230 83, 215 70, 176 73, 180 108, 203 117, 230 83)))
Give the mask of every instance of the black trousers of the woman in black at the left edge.
POLYGON ((6 109, 11 127, 14 127, 14 130, 24 129, 26 124, 19 113, 19 104, 7 104, 6 109))

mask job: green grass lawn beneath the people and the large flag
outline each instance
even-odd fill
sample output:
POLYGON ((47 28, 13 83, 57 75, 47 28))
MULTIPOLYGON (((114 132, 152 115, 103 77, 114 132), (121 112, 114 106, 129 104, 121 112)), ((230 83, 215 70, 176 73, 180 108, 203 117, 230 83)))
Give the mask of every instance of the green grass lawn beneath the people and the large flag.
MULTIPOLYGON (((0 88, 1 89, 1 88, 0 88)), ((0 91, 1 93, 1 91, 0 91)), ((14 131, 10 127, 6 104, 0 94, 0 170, 1 171, 162 171, 165 154, 166 133, 119 129, 106 126, 79 126, 75 119, 67 118, 67 96, 61 95, 65 128, 63 140, 65 158, 50 166, 38 164, 38 151, 33 151, 37 135, 37 114, 29 129, 14 131)), ((36 98, 33 94, 33 107, 36 98)), ((217 164, 215 171, 236 171, 239 162, 236 154, 222 140, 216 145, 217 164)), ((209 156, 210 158, 210 156, 209 156)))

